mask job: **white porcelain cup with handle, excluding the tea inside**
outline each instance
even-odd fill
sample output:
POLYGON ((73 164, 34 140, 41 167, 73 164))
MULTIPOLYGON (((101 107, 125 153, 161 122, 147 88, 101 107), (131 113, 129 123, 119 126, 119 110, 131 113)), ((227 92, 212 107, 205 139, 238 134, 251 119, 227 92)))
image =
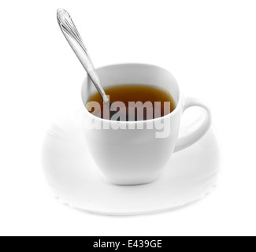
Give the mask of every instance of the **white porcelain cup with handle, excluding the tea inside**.
POLYGON ((110 183, 153 182, 173 152, 196 143, 210 128, 210 110, 198 99, 183 98, 178 83, 165 69, 154 65, 121 64, 102 67, 97 73, 102 87, 138 83, 161 87, 169 91, 176 103, 172 113, 154 120, 106 120, 95 117, 85 108, 96 89, 88 77, 83 81, 83 133, 96 165, 110 183), (204 109, 205 120, 194 132, 178 138, 182 113, 192 106, 204 109), (91 125, 97 125, 97 128, 91 125))

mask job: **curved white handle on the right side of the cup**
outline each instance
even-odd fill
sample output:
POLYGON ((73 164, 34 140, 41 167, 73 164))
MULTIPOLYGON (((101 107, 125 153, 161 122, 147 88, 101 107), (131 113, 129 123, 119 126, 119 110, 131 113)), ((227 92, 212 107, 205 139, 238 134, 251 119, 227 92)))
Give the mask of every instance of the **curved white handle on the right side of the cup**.
POLYGON ((183 137, 179 137, 176 142, 176 146, 174 149, 174 153, 178 152, 180 150, 184 150, 188 146, 191 146, 192 144, 196 143, 199 139, 202 138, 206 134, 206 132, 209 130, 210 125, 211 125, 211 113, 210 109, 204 105, 202 102, 200 102, 196 98, 186 98, 184 102, 184 109, 183 112, 191 107, 201 107, 202 109, 205 110, 206 117, 202 124, 194 131, 191 132, 188 135, 185 135, 183 137))

